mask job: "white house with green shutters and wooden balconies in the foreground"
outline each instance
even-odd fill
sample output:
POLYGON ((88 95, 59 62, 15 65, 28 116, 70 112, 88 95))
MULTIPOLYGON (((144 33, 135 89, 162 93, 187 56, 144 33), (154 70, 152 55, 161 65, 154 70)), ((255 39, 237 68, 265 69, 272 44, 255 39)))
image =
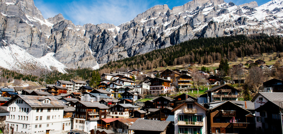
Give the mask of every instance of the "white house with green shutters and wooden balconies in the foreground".
POLYGON ((194 99, 185 100, 171 110, 174 115, 175 134, 207 134, 207 109, 194 99))

